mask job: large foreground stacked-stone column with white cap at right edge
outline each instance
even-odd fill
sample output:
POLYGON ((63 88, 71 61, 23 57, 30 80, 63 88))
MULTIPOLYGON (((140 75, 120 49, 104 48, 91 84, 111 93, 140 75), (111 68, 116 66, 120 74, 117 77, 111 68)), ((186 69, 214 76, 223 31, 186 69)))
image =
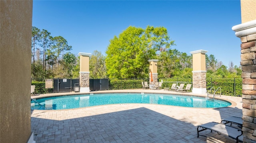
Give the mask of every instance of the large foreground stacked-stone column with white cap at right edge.
POLYGON ((242 42, 240 65, 244 143, 256 143, 256 20, 236 25, 232 30, 242 42))

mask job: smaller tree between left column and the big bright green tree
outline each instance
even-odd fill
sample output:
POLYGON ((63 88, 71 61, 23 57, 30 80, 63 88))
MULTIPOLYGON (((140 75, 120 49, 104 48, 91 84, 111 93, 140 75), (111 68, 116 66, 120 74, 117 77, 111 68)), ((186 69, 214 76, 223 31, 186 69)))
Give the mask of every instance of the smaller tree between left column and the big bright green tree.
POLYGON ((90 78, 106 78, 105 57, 99 51, 93 51, 89 61, 90 78))

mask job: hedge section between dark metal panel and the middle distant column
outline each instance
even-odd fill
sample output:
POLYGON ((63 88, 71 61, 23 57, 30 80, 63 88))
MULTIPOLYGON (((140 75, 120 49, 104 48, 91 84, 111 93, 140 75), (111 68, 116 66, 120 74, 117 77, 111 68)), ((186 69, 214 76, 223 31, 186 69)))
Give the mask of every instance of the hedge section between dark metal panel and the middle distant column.
POLYGON ((143 80, 120 80, 120 79, 109 79, 110 90, 118 90, 118 89, 139 89, 142 88, 143 80))

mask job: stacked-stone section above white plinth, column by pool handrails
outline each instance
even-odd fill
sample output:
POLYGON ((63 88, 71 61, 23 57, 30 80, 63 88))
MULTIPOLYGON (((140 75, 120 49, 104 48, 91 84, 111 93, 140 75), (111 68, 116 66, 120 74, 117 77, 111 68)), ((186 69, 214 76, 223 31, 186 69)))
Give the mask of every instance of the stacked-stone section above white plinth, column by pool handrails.
POLYGON ((193 72, 193 88, 206 88, 206 72, 193 72))

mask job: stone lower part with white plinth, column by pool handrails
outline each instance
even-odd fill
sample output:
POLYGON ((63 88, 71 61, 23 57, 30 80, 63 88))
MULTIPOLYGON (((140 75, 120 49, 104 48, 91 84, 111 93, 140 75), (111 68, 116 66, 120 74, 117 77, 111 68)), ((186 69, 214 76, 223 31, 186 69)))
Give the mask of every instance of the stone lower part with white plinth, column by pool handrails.
POLYGON ((192 93, 206 94, 206 71, 192 71, 193 87, 192 93))

